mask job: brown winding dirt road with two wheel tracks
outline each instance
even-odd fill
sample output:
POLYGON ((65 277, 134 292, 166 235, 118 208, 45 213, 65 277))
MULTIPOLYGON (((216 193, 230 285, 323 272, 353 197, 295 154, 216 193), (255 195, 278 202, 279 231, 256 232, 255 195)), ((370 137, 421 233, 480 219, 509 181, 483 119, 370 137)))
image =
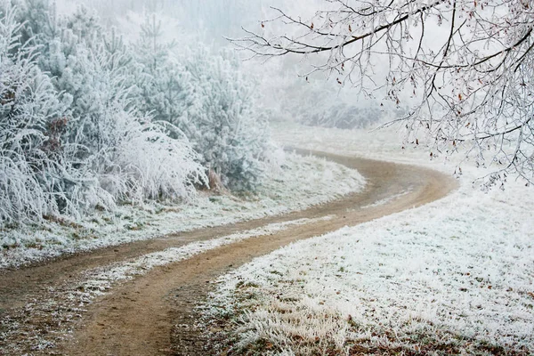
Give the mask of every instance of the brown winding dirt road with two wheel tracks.
POLYGON ((202 350, 206 340, 201 338, 202 330, 194 327, 197 319, 194 306, 206 296, 213 287, 210 282, 218 276, 293 241, 421 206, 446 196, 457 187, 451 177, 417 166, 311 153, 358 169, 366 178, 367 186, 360 193, 283 216, 139 241, 21 270, 0 272, 0 317, 34 300, 39 291, 69 283, 69 279, 95 267, 269 223, 332 216, 329 220, 291 225, 270 236, 215 248, 182 262, 155 268, 115 287, 89 306, 77 323, 74 336, 54 349, 55 353, 51 352, 65 355, 202 355, 205 354, 202 350))

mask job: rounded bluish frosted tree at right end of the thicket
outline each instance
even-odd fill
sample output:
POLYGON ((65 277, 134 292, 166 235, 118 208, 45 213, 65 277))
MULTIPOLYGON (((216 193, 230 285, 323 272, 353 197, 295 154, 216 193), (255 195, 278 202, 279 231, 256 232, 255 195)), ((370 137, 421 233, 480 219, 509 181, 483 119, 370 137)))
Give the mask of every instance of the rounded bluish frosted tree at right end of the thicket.
POLYGON ((197 50, 189 57, 199 100, 182 119, 182 129, 206 164, 234 190, 254 190, 272 150, 266 118, 255 102, 256 87, 231 53, 197 50))

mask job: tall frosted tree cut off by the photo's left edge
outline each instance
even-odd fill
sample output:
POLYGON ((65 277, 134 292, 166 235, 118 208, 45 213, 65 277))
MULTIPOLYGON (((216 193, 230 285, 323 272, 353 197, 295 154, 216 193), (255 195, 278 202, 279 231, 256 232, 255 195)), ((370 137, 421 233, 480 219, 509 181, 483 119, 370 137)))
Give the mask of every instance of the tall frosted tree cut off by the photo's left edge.
POLYGON ((57 154, 64 107, 16 17, 12 4, 0 4, 0 225, 57 213, 65 174, 57 154))

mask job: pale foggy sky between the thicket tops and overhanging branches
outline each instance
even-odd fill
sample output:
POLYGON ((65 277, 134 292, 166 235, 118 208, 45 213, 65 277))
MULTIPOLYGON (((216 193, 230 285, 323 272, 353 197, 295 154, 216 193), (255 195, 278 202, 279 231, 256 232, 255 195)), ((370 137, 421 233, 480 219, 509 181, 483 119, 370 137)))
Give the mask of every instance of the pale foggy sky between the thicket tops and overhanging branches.
MULTIPOLYGON (((175 41, 174 51, 187 53, 201 42, 214 51, 231 50, 243 59, 242 69, 254 79, 259 104, 273 121, 294 120, 307 125, 340 128, 373 128, 403 112, 383 93, 360 93, 343 87, 328 73, 308 75, 310 64, 303 57, 285 56, 269 61, 250 60, 227 38, 246 36, 243 28, 259 30, 263 20, 276 16, 271 7, 311 17, 323 0, 59 0, 61 13, 76 11, 84 5, 97 12, 101 22, 116 27, 129 41, 136 41, 147 17, 161 21, 162 39, 175 41), (308 77, 308 81, 306 81, 308 77)), ((265 26, 275 26, 266 22, 265 26)), ((311 59, 312 60, 312 59, 311 59)))

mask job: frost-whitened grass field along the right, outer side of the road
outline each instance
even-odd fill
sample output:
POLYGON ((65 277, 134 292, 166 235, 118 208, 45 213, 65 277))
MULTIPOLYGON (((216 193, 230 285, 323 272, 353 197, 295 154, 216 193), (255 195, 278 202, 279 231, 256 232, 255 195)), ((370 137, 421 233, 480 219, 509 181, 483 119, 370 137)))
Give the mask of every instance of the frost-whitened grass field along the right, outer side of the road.
MULTIPOLYGON (((426 150, 399 150, 392 132, 278 133, 297 147, 458 171, 426 150)), ((297 242, 224 276, 202 306, 206 322, 226 328, 210 337, 238 354, 533 354, 534 190, 507 182, 485 193, 472 183, 485 172, 461 168, 447 198, 297 242)))

